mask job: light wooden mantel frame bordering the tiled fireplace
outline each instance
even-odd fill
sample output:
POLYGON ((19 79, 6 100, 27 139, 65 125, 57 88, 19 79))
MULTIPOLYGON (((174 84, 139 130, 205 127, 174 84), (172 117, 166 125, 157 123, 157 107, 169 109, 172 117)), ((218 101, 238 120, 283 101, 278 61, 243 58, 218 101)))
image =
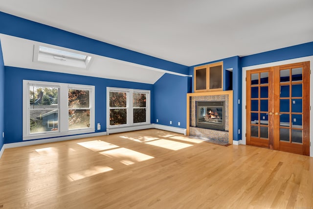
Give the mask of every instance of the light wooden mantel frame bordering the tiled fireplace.
MULTIPOLYGON (((203 101, 204 99, 211 100, 212 101, 218 101, 220 98, 227 98, 227 106, 228 106, 228 111, 227 113, 227 127, 225 127, 227 131, 227 140, 229 144, 232 144, 233 141, 233 91, 217 91, 217 92, 199 92, 199 93, 187 93, 187 132, 186 134, 189 136, 190 135, 190 130, 195 129, 196 127, 192 126, 192 121, 191 121, 191 111, 192 111, 192 101, 195 99, 197 101, 203 101)), ((203 130, 203 129, 202 129, 203 130)), ((206 129, 209 132, 211 131, 210 129, 206 129)), ((212 130, 212 135, 216 132, 220 131, 215 131, 212 130)))

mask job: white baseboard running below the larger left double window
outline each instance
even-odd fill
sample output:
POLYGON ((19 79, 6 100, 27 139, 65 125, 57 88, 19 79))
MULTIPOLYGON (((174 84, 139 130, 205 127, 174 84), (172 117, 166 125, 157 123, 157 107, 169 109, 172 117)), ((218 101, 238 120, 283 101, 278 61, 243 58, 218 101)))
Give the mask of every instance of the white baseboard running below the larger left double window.
POLYGON ((82 135, 74 135, 74 136, 66 136, 66 137, 57 137, 57 138, 50 138, 50 139, 38 139, 32 141, 22 141, 22 142, 15 142, 15 143, 8 143, 4 144, 2 149, 14 148, 14 147, 21 147, 21 146, 29 146, 35 144, 44 144, 50 142, 57 142, 57 141, 66 141, 72 139, 82 139, 82 138, 89 138, 89 137, 99 137, 107 135, 107 132, 98 132, 92 134, 82 134, 82 135))

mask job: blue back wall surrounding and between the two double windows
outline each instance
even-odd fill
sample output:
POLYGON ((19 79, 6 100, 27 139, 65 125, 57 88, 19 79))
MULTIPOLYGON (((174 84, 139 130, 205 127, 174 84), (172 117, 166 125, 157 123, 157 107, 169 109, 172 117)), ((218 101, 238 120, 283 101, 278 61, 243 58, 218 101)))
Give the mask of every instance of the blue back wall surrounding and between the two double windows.
MULTIPOLYGON (((95 78, 82 75, 29 70, 14 67, 4 67, 5 71, 5 143, 22 141, 22 80, 39 80, 48 82, 72 83, 95 86, 95 124, 101 124, 101 130, 106 131, 106 99, 107 87, 142 89, 151 91, 151 104, 154 103, 152 84, 142 84, 105 78, 95 78)), ((1 105, 0 105, 1 108, 1 105)), ((153 106, 151 108, 153 110, 153 106)), ((3 110, 3 108, 2 108, 3 110)), ((151 110, 151 117, 153 111, 151 110)), ((3 117, 1 117, 3 118, 3 117)), ((1 121, 1 120, 0 120, 1 121)))

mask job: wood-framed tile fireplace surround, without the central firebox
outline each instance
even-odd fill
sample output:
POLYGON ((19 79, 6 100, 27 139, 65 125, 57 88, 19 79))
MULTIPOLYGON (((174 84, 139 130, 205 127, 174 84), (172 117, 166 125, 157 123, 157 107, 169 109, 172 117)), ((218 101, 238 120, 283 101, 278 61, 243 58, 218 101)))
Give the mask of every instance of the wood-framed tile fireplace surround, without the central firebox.
POLYGON ((233 141, 233 91, 187 93, 187 135, 232 144, 233 141), (196 127, 196 102, 225 102, 225 131, 196 127))

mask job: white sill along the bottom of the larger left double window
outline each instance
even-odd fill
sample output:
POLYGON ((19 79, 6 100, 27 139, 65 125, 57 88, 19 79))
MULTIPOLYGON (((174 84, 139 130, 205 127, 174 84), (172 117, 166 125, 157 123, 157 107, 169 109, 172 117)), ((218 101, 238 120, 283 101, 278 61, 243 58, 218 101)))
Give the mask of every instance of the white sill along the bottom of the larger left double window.
POLYGON ((80 129, 80 130, 72 130, 67 132, 56 132, 56 133, 44 133, 44 134, 34 134, 23 137, 24 140, 33 140, 33 139, 47 139, 53 137, 65 137, 70 135, 78 135, 78 134, 89 134, 94 133, 94 129, 80 129))

